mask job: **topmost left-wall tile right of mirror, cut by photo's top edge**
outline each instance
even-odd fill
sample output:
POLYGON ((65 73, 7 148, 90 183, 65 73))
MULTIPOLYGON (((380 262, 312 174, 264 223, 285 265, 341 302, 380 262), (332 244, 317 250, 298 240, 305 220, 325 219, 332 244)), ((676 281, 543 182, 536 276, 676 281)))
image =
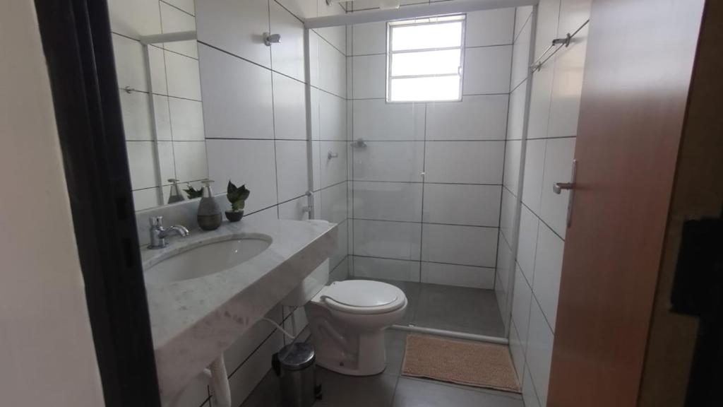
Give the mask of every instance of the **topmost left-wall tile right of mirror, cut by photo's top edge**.
POLYGON ((198 41, 270 67, 271 50, 263 38, 269 32, 268 0, 198 1, 196 6, 198 41))

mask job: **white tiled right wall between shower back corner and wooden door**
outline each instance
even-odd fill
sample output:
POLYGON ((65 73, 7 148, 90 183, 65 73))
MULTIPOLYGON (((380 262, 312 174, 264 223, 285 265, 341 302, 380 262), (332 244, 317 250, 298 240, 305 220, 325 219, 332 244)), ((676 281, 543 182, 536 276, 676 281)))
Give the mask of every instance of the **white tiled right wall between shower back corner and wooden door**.
MULTIPOLYGON (((568 209, 567 192, 552 193, 552 183, 570 180, 586 29, 578 33, 573 44, 549 59, 531 79, 526 78, 526 70, 530 54, 539 55, 553 38, 564 38, 585 22, 589 16, 589 0, 541 0, 536 14, 531 7, 521 7, 515 16, 510 82, 513 93, 507 142, 509 161, 505 163, 502 187, 502 223, 510 226, 502 227, 500 239, 500 246, 515 251, 515 261, 508 266, 512 271, 510 282, 513 282, 514 290, 511 298, 508 293, 498 295, 498 298, 505 298, 505 295, 508 298, 500 307, 506 307, 512 314, 510 352, 522 382, 525 405, 544 407, 555 339, 568 209), (528 88, 531 94, 526 111, 528 88), (524 126, 526 117, 527 127, 524 126), (510 154, 513 150, 515 152, 510 154), (515 172, 513 167, 523 170, 515 172), (514 214, 518 214, 516 222, 514 214)), ((502 274, 500 269, 497 274, 502 274)), ((511 285, 498 282, 497 287, 511 285)))

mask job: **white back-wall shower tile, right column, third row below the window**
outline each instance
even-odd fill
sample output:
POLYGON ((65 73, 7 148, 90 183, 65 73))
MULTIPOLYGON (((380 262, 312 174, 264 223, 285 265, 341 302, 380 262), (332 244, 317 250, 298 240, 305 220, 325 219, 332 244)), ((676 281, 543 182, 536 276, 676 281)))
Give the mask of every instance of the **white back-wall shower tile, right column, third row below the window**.
POLYGON ((424 222, 497 227, 498 185, 424 184, 424 222))

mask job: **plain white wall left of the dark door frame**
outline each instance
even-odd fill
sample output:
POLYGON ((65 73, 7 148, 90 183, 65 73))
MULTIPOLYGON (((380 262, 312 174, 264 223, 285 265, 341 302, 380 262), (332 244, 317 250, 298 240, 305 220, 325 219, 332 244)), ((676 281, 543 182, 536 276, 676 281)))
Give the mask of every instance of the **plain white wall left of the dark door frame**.
POLYGON ((32 1, 4 1, 0 49, 1 403, 103 406, 32 1))

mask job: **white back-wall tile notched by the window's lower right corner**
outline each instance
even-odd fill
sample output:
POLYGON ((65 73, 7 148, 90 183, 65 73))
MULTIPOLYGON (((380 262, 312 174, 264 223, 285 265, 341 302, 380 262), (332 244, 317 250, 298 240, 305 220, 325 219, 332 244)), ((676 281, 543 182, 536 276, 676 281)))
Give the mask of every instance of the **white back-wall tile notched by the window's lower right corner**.
POLYGON ((508 99, 464 96, 462 101, 427 104, 427 140, 504 140, 508 99))

